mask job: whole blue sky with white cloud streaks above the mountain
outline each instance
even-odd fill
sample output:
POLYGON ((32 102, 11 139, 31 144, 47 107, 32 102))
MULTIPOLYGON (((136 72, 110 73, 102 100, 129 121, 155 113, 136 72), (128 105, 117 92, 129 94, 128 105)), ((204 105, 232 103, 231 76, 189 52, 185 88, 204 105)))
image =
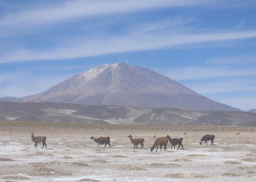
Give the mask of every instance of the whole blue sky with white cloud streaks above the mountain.
POLYGON ((248 111, 255 17, 255 0, 0 0, 0 97, 123 61, 248 111))

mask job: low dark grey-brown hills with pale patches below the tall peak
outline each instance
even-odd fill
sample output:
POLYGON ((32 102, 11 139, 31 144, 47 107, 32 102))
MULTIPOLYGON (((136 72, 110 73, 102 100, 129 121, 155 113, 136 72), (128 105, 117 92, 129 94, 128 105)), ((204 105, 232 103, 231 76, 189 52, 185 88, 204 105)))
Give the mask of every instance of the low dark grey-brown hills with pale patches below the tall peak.
POLYGON ((0 102, 0 121, 81 122, 141 125, 256 126, 256 113, 176 108, 92 106, 70 103, 0 102))

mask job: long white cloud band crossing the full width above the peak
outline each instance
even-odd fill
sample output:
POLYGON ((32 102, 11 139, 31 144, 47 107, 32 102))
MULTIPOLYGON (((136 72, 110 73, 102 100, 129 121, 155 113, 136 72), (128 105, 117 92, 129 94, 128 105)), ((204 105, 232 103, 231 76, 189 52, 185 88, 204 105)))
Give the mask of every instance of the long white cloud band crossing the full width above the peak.
MULTIPOLYGON (((102 37, 98 40, 85 40, 72 47, 58 47, 52 50, 33 51, 20 49, 0 57, 0 63, 28 60, 52 60, 90 57, 130 51, 165 49, 174 45, 236 40, 256 37, 256 30, 220 32, 188 35, 132 34, 123 37, 102 37)), ((68 44, 68 43, 67 43, 68 44)))

